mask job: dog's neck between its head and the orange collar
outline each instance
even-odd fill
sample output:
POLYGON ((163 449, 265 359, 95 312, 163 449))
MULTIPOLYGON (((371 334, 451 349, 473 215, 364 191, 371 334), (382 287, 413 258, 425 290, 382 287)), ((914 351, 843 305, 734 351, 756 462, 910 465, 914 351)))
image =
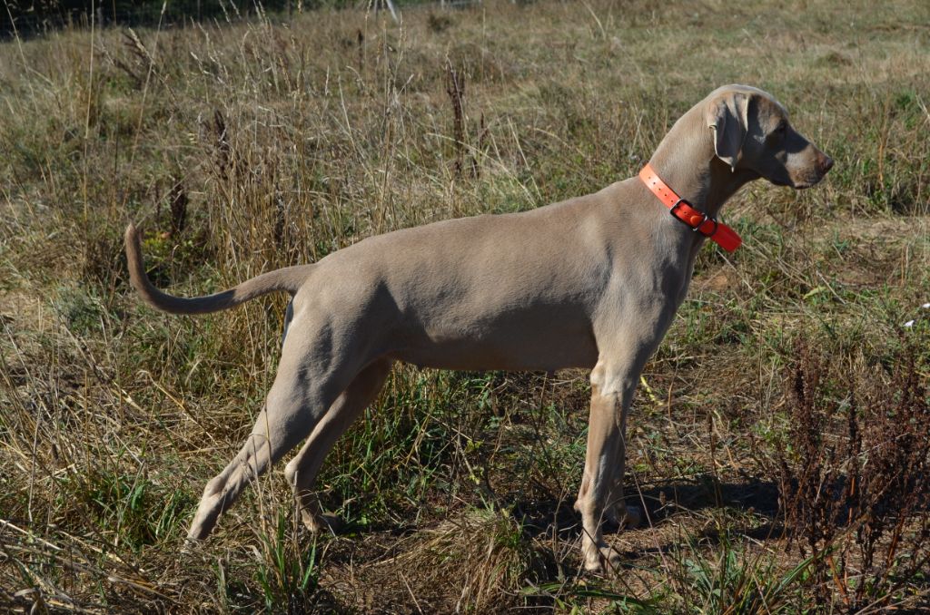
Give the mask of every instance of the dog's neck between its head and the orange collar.
POLYGON ((758 177, 717 158, 713 131, 704 124, 701 107, 685 113, 658 144, 649 164, 671 190, 697 210, 716 217, 724 203, 758 177))

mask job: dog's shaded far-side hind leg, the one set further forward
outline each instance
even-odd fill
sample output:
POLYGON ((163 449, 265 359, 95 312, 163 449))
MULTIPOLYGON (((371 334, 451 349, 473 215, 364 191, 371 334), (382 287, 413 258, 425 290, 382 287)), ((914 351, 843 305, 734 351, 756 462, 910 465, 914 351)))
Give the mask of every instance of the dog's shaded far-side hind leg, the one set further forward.
POLYGON ((312 492, 313 483, 326 454, 333 448, 349 425, 358 418, 375 398, 388 374, 391 373, 391 360, 377 360, 355 376, 352 384, 346 388, 326 412, 323 419, 313 428, 310 438, 285 467, 287 482, 294 488, 294 497, 298 504, 300 517, 307 529, 311 531, 337 530, 339 519, 324 515, 312 492))

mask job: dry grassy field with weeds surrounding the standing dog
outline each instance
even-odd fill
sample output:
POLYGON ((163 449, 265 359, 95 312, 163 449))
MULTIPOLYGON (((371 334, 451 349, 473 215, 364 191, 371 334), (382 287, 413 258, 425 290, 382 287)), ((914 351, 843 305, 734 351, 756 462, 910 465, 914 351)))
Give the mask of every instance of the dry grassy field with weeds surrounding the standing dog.
POLYGON ((0 609, 930 608, 930 5, 757 4, 321 10, 0 44, 0 609), (619 574, 581 570, 581 372, 398 367, 320 479, 345 533, 299 527, 281 464, 180 552, 271 383, 284 298, 145 308, 126 221, 157 284, 212 292, 630 177, 726 83, 773 93, 836 165, 724 208, 744 247, 704 247, 631 412, 648 523, 608 535, 619 574))

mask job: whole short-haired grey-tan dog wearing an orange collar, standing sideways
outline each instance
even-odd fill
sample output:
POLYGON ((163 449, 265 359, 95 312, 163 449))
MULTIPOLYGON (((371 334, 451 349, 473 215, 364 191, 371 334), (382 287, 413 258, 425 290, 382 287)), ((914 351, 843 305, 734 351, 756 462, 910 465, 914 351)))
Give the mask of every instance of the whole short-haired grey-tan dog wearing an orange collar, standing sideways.
POLYGON ((242 450, 207 483, 189 540, 205 538, 251 478, 308 437, 285 474, 303 522, 326 528, 314 479, 395 360, 451 370, 583 367, 592 370, 591 422, 575 507, 585 566, 618 564, 601 526, 637 517, 623 504, 633 391, 704 240, 727 250, 739 243, 716 221, 720 208, 753 179, 808 188, 832 165, 774 98, 727 85, 672 126, 640 177, 529 212, 371 237, 218 294, 186 299, 154 288, 130 225, 132 283, 155 308, 203 314, 275 291, 292 296, 265 407, 242 450))

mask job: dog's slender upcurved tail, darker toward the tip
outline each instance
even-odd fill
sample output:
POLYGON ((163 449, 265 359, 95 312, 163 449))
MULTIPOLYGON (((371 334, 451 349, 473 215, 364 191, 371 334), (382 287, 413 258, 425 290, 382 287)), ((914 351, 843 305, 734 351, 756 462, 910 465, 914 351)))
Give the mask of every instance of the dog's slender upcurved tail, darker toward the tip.
POLYGON ((262 294, 276 291, 286 291, 293 295, 297 293, 300 285, 310 275, 313 267, 312 265, 286 267, 263 273, 221 293, 192 298, 178 297, 161 292, 149 280, 149 276, 146 275, 145 268, 142 266, 139 232, 136 231, 136 227, 132 224, 126 227, 126 261, 129 265, 129 280, 132 281, 132 285, 142 295, 142 299, 153 308, 172 314, 216 312, 221 309, 234 308, 262 294))

